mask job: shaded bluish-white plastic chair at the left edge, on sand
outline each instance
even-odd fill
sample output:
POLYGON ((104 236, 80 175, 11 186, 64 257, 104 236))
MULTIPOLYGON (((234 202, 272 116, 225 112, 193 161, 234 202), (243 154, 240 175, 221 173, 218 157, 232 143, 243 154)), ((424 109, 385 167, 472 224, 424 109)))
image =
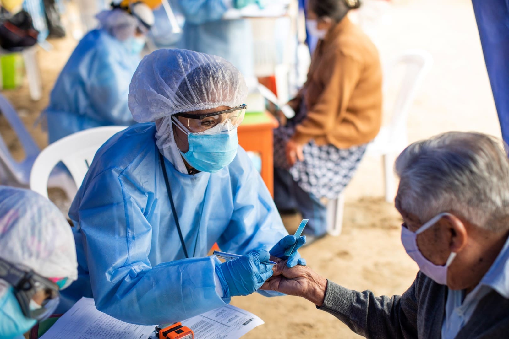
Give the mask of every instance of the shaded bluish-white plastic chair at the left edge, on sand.
MULTIPOLYGON (((0 112, 5 116, 9 125, 16 133, 25 153, 23 160, 16 161, 12 157, 4 139, 0 136, 0 180, 3 184, 28 188, 30 184, 30 171, 40 153, 40 149, 29 131, 26 130, 14 107, 2 95, 0 95, 0 112)), ((60 169, 53 171, 48 186, 61 188, 70 198, 76 193, 72 179, 65 171, 60 169)))

